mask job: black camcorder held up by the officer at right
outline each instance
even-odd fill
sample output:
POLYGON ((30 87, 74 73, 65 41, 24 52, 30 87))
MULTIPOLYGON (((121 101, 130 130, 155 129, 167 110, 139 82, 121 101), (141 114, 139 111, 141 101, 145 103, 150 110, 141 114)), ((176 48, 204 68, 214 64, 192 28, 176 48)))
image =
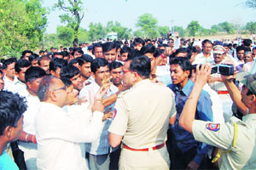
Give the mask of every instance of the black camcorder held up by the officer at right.
MULTIPOLYGON (((196 65, 192 65, 192 69, 195 69, 196 65)), ((199 67, 201 69, 201 65, 199 67)), ((218 73, 224 76, 230 76, 234 74, 234 66, 233 65, 214 65, 212 66, 211 74, 218 73)))

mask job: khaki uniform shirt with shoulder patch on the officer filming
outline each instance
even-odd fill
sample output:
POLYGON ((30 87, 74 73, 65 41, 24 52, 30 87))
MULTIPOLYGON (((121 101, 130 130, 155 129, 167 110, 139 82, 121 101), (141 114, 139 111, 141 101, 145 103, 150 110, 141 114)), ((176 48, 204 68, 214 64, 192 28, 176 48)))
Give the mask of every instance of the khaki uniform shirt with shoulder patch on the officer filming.
POLYGON ((195 120, 193 135, 196 140, 221 150, 230 150, 219 158, 219 169, 256 169, 256 114, 243 116, 242 121, 231 117, 230 122, 215 124, 195 120), (233 147, 234 123, 237 122, 237 139, 233 147))

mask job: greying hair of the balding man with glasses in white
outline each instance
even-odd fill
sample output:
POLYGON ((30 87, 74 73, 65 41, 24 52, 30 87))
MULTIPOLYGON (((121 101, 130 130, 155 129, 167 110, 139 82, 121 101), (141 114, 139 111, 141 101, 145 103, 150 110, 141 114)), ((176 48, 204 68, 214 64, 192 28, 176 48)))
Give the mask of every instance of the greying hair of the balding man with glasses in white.
POLYGON ((48 99, 49 88, 54 85, 54 82, 53 82, 54 79, 55 77, 53 76, 46 76, 40 82, 38 93, 37 93, 38 99, 40 99, 40 101, 45 101, 48 99))

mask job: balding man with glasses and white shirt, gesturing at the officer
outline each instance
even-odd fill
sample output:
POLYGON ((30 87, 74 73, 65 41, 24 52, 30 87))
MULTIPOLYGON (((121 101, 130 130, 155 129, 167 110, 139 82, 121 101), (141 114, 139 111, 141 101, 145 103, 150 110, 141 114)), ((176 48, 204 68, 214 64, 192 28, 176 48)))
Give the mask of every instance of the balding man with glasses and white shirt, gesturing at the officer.
POLYGON ((101 88, 96 94, 90 124, 86 123, 86 113, 69 114, 62 109, 69 103, 68 93, 65 84, 55 77, 44 77, 38 88, 38 169, 86 169, 82 143, 94 141, 101 131, 104 91, 101 88))

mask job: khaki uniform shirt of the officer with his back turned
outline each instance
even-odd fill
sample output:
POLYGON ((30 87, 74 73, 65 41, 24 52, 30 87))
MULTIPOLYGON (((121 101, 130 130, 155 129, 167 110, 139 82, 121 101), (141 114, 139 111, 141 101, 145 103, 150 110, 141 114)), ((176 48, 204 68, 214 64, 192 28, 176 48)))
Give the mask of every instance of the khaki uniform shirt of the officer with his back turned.
POLYGON ((108 131, 124 136, 123 143, 134 149, 164 143, 169 118, 176 114, 172 90, 148 79, 120 94, 115 109, 108 131))

